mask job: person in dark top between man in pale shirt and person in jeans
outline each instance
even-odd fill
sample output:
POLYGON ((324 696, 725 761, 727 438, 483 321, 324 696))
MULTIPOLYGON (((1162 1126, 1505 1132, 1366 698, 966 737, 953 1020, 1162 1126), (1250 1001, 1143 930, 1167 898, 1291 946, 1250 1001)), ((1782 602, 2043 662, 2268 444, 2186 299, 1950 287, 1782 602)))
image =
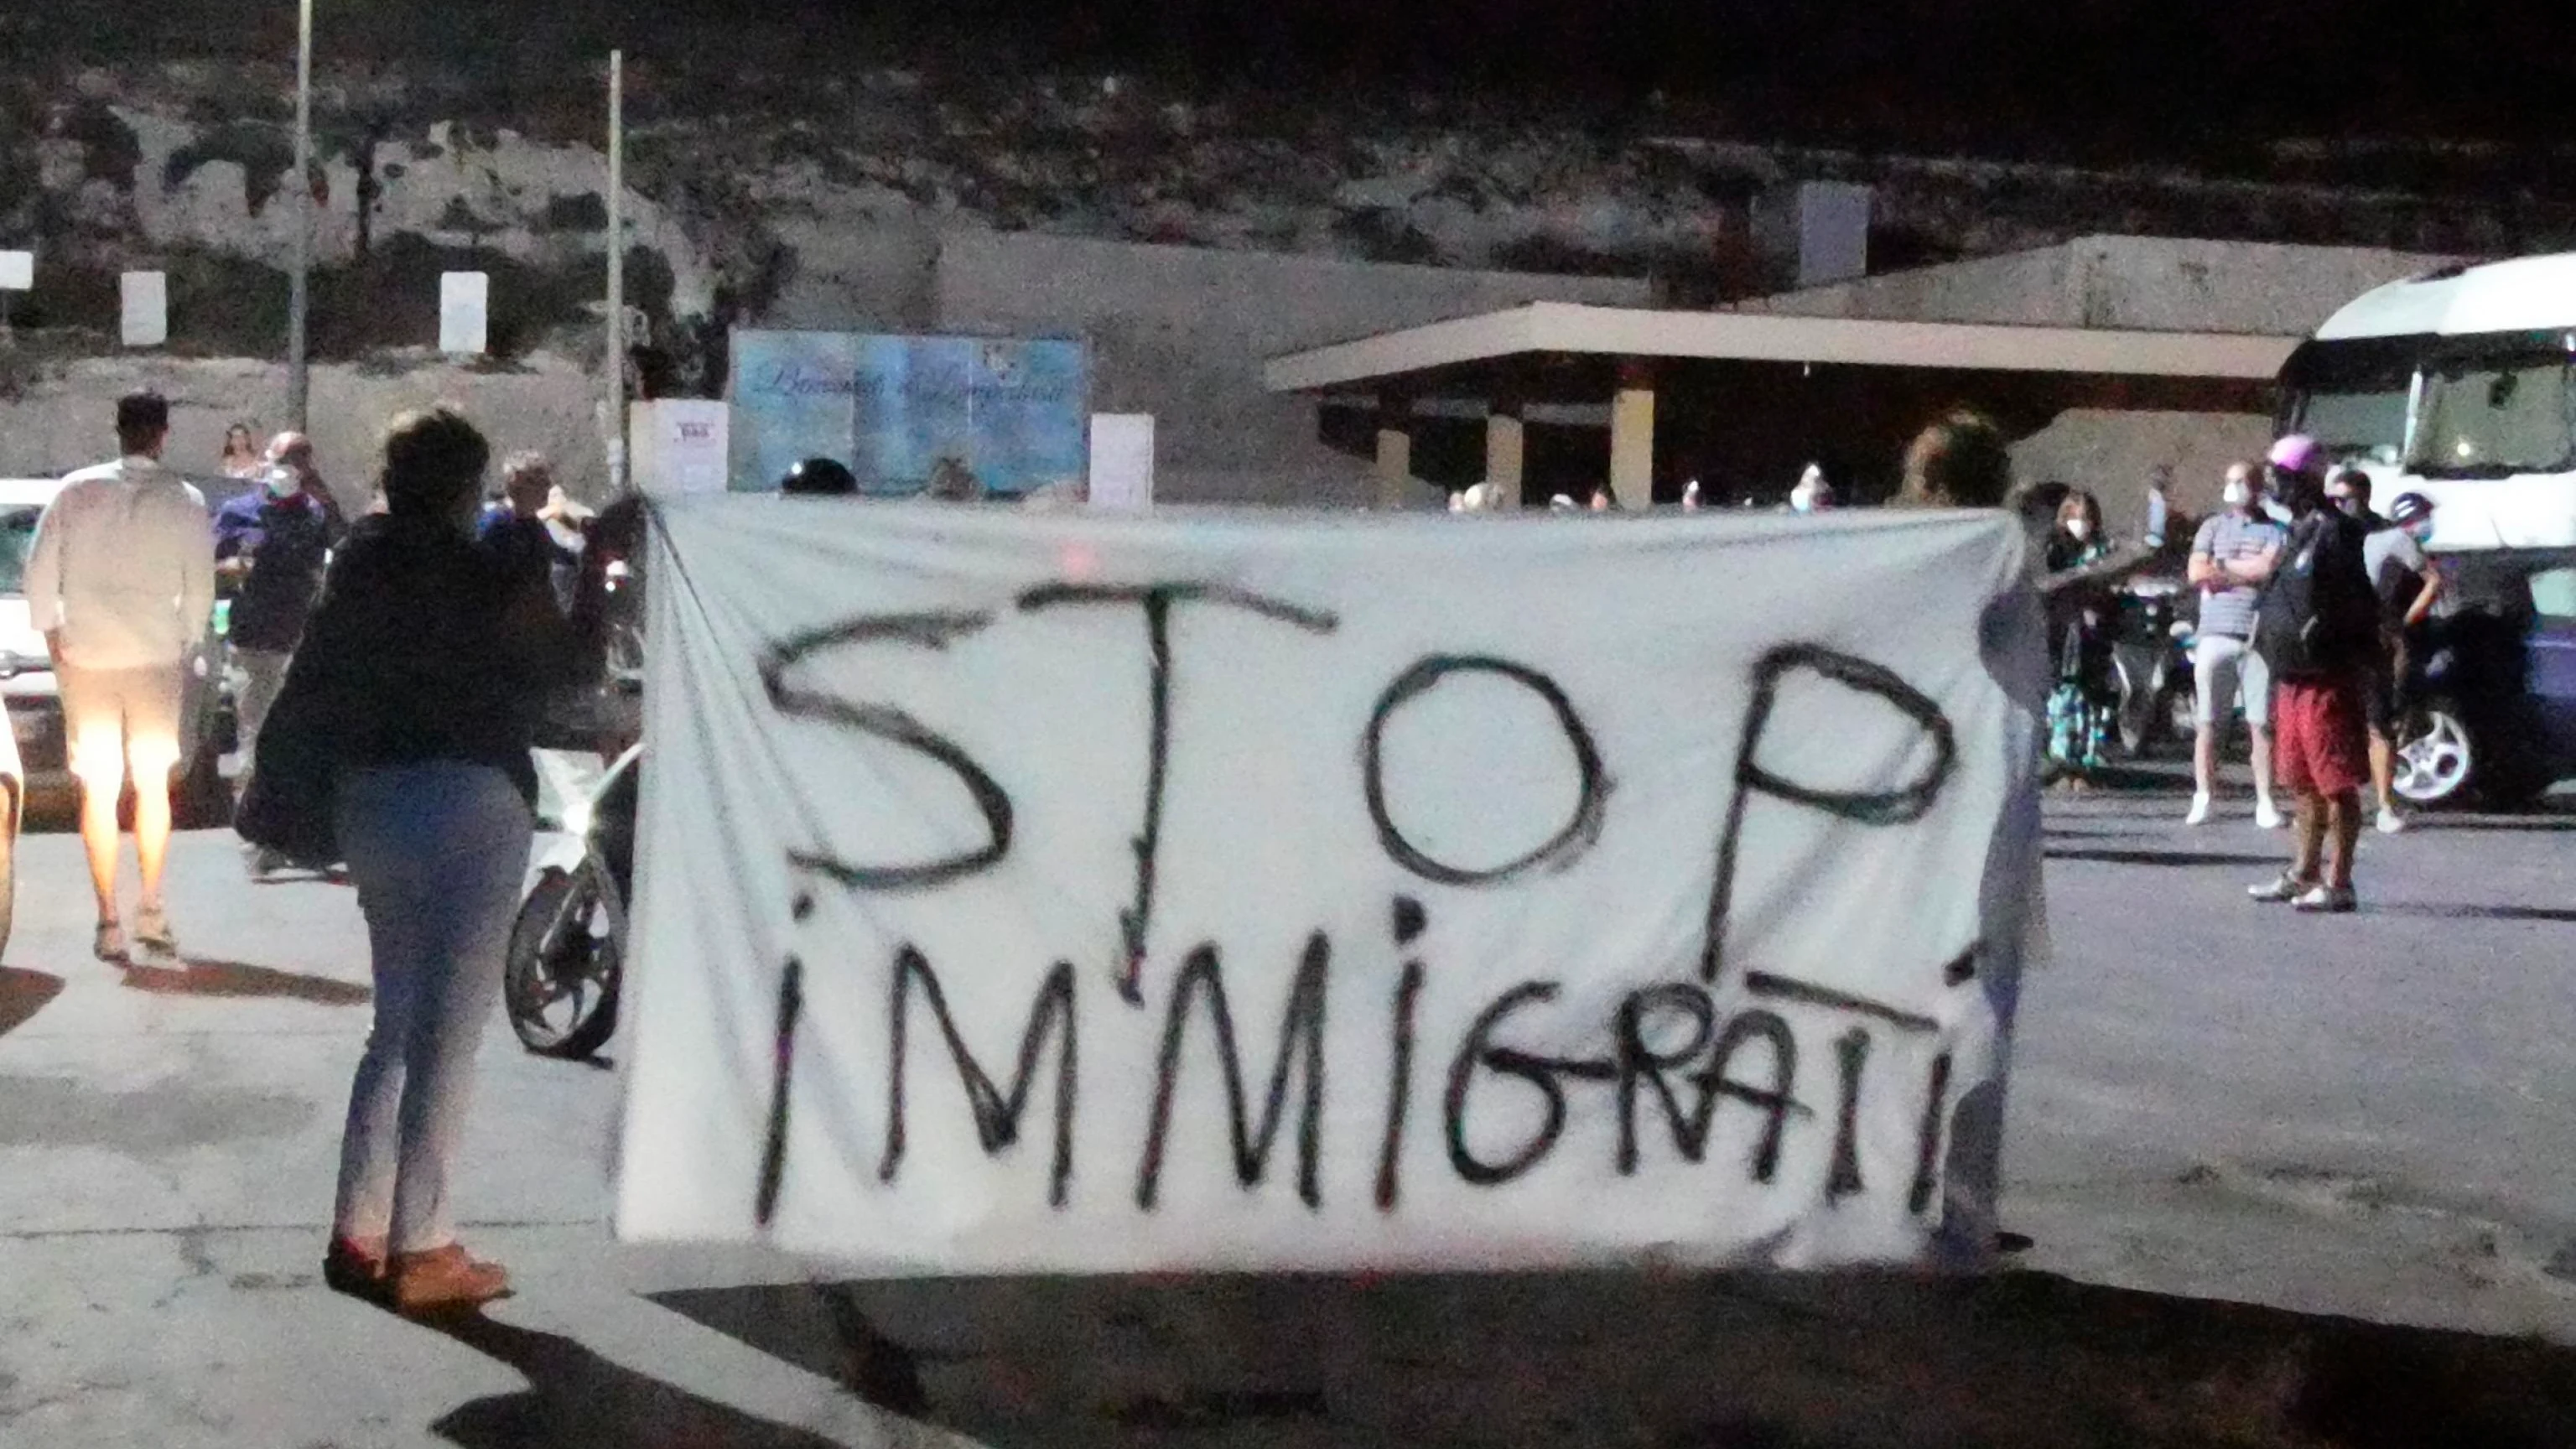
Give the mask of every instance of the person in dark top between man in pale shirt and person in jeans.
MULTIPOLYGON (((322 562, 340 541, 340 526, 304 485, 304 472, 278 462, 245 492, 214 511, 214 578, 232 590, 227 642, 242 670, 234 712, 242 732, 242 784, 260 755, 260 724, 286 683, 286 663, 304 637, 322 562)), ((245 846, 250 879, 268 879, 289 861, 245 846)))

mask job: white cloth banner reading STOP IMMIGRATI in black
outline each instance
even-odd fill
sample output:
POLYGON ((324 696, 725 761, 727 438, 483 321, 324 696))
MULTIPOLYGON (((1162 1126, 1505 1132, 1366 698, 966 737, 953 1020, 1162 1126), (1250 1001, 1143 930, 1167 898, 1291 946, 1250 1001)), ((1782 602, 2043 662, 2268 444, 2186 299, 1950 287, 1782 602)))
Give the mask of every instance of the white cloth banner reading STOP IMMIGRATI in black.
POLYGON ((863 1274, 1984 1253, 2004 516, 659 508, 618 1230, 863 1274))

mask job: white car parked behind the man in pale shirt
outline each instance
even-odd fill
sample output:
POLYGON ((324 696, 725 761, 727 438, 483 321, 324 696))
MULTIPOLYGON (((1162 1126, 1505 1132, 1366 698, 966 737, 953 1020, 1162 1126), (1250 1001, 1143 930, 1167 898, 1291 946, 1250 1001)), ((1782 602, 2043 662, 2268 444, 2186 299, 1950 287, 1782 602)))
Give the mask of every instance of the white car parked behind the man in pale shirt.
MULTIPOLYGON (((36 518, 57 492, 62 480, 54 477, 0 480, 0 701, 8 704, 21 797, 59 797, 75 786, 62 691, 26 603, 26 554, 36 541, 36 518)), ((209 629, 180 701, 180 773, 170 807, 183 828, 224 825, 232 817, 232 789, 222 773, 234 732, 232 691, 224 688, 216 660, 222 639, 209 629)))

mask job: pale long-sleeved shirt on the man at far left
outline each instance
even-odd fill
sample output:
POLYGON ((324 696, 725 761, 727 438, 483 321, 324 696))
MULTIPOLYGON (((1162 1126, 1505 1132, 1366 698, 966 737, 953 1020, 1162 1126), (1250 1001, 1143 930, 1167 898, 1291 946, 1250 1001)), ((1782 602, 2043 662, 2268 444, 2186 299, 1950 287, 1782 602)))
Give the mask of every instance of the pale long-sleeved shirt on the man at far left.
POLYGON ((36 632, 62 629, 72 668, 180 663, 214 614, 206 498, 144 456, 70 474, 36 521, 26 611, 36 632))

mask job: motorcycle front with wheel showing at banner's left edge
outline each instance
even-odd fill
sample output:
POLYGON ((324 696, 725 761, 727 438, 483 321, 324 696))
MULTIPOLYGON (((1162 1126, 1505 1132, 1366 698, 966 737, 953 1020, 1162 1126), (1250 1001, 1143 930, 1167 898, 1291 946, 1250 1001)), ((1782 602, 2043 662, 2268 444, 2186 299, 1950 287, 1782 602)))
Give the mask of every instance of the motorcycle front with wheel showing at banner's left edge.
POLYGON ((631 745, 564 810, 577 856, 538 866, 510 928, 502 1003, 520 1044, 541 1057, 590 1057, 618 1029, 641 763, 644 745, 631 745))

